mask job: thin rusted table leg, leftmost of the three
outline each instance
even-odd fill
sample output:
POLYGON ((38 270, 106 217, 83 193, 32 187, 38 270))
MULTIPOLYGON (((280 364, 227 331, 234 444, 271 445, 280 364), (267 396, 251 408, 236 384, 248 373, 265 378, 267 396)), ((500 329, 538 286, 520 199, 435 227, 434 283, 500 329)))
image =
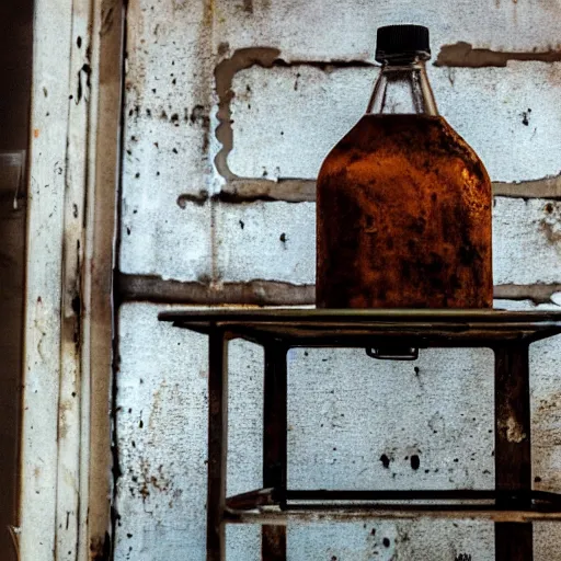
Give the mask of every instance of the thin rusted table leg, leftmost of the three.
POLYGON ((226 560, 224 507, 228 450, 228 340, 213 331, 208 343, 208 491, 206 559, 226 560))

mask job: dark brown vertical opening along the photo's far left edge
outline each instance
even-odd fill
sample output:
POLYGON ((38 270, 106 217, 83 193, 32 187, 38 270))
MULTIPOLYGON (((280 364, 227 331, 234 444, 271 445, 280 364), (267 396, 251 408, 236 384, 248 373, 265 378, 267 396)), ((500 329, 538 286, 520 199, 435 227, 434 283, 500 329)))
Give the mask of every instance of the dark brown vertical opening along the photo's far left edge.
POLYGON ((16 561, 33 0, 0 2, 0 559, 16 561))

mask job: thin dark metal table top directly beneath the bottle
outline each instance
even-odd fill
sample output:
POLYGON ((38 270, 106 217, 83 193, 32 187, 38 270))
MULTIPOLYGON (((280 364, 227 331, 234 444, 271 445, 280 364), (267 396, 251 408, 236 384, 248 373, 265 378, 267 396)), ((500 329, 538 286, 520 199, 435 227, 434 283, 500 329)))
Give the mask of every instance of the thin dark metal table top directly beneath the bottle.
POLYGON ((360 337, 423 339, 431 343, 481 344, 536 341, 561 333, 561 312, 503 310, 407 310, 220 307, 163 311, 161 321, 210 334, 291 343, 348 343, 360 337))

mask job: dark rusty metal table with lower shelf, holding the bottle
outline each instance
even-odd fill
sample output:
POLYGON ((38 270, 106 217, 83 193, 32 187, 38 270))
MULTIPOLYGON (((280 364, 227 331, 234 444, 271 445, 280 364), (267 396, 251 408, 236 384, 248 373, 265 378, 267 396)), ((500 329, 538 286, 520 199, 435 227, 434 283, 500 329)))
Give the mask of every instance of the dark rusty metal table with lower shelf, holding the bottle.
POLYGON ((482 518, 499 561, 533 559, 534 520, 561 519, 561 494, 531 489, 530 343, 561 333, 560 312, 208 308, 159 319, 209 336, 207 560, 224 561, 225 524, 263 526, 262 559, 286 560, 286 524, 366 518, 482 518), (265 352, 263 488, 226 496, 228 342, 265 352), (358 347, 402 358, 428 347, 489 347, 495 356, 495 490, 287 489, 287 368, 293 347, 358 347), (401 351, 400 351, 401 353, 401 351), (391 354, 391 353, 390 353, 391 354))

